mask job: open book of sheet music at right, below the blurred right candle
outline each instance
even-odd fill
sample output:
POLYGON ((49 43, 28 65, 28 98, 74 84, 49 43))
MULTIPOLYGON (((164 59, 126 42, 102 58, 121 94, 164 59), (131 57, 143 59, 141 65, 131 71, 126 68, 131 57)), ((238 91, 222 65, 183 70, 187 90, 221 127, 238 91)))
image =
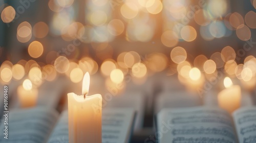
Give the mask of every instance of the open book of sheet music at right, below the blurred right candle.
POLYGON ((156 120, 160 143, 256 142, 256 107, 238 109, 232 117, 218 107, 165 108, 156 120))

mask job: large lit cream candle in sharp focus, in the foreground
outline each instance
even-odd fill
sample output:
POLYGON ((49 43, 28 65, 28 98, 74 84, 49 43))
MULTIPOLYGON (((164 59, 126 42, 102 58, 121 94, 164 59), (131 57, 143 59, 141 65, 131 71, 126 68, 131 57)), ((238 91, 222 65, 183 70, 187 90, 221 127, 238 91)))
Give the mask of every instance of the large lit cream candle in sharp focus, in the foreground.
POLYGON ((101 94, 88 96, 90 75, 82 81, 82 95, 68 93, 69 142, 101 143, 101 94))

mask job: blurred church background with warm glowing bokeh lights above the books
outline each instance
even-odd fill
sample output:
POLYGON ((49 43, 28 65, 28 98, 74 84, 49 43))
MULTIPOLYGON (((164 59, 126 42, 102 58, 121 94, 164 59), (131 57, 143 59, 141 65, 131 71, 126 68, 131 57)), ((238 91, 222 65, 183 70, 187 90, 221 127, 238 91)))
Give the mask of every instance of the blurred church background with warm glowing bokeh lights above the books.
POLYGON ((91 94, 143 94, 146 104, 138 108, 146 120, 138 122, 152 127, 160 91, 202 98, 230 77, 254 92, 256 0, 0 0, 0 6, 0 82, 16 84, 13 94, 25 79, 39 94, 50 90, 44 83, 67 83, 64 95, 80 93, 89 72, 91 94))

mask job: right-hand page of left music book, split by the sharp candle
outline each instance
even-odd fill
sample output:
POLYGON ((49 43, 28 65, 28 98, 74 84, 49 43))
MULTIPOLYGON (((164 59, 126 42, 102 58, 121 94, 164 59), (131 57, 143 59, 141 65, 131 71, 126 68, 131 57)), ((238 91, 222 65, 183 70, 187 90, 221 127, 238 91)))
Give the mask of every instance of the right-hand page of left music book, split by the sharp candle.
MULTIPOLYGON (((132 108, 102 110, 102 143, 125 143, 130 139, 135 112, 132 108)), ((48 143, 68 143, 68 111, 63 111, 48 143)))

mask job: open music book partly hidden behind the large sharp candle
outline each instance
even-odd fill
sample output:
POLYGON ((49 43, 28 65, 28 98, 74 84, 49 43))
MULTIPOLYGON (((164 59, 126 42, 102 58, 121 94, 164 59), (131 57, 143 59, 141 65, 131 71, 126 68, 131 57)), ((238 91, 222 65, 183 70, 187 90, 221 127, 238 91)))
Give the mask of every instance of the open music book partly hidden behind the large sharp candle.
MULTIPOLYGON (((129 142, 135 119, 131 108, 104 109, 102 111, 102 143, 129 142)), ((5 126, 1 122, 0 129, 5 126)), ((7 138, 0 134, 0 142, 44 143, 69 142, 68 111, 61 115, 51 108, 16 109, 9 113, 7 138), (59 118, 59 119, 58 119, 59 118)))

